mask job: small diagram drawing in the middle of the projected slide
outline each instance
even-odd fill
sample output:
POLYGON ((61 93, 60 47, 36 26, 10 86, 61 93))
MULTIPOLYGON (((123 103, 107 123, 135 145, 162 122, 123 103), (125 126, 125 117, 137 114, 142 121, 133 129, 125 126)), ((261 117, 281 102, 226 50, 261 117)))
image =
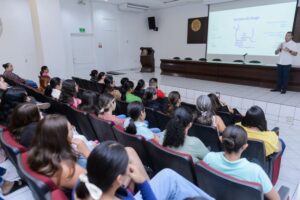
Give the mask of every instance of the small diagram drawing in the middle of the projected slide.
POLYGON ((234 45, 242 49, 255 48, 255 29, 253 27, 243 29, 240 24, 234 26, 235 43, 234 45))

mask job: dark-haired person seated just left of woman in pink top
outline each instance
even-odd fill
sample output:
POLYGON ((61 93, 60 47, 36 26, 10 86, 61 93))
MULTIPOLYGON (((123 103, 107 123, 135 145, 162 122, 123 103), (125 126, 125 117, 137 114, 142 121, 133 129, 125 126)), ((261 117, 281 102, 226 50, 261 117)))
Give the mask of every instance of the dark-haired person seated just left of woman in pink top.
POLYGON ((97 102, 98 94, 93 91, 85 90, 81 95, 81 104, 79 104, 78 109, 97 115, 99 112, 97 102))

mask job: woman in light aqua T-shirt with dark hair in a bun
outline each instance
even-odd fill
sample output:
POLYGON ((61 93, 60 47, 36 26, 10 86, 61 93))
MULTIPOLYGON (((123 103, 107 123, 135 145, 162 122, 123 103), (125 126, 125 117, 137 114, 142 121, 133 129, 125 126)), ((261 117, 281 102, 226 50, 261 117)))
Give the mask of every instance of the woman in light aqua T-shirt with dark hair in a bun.
POLYGON ((267 199, 279 200, 268 175, 257 164, 241 158, 248 147, 247 133, 239 126, 228 126, 222 134, 222 144, 225 152, 210 152, 204 162, 212 168, 244 181, 256 182, 262 185, 267 199))

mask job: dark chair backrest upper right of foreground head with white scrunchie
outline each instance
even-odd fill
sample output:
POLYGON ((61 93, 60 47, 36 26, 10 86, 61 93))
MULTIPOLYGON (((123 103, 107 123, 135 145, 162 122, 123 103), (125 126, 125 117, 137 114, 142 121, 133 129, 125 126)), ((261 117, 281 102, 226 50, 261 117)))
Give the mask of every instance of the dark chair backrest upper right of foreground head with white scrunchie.
POLYGON ((148 152, 146 151, 144 145, 145 139, 143 136, 126 133, 116 126, 113 126, 113 131, 119 143, 123 144, 126 147, 132 147, 139 155, 143 164, 152 168, 148 152))

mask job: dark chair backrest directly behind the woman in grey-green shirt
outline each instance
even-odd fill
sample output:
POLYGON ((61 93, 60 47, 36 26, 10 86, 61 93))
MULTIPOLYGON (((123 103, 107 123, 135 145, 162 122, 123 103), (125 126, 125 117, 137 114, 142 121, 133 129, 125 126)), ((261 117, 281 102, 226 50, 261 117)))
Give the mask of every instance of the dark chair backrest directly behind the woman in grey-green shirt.
POLYGON ((170 168, 195 183, 194 163, 191 155, 175 152, 152 141, 147 141, 145 144, 154 173, 170 168))

